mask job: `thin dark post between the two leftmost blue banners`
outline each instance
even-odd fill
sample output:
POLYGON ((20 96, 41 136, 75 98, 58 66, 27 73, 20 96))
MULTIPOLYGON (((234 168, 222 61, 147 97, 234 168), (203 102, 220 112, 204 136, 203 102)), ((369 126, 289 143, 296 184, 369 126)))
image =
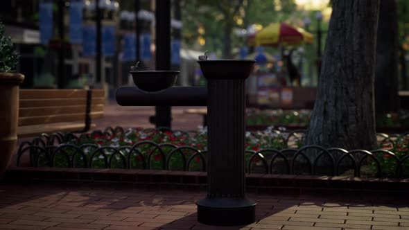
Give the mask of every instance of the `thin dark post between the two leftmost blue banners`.
POLYGON ((65 79, 65 70, 64 70, 64 8, 65 8, 65 1, 60 0, 58 1, 58 33, 60 37, 60 49, 58 50, 58 77, 57 77, 57 85, 59 89, 63 89, 66 85, 65 79))

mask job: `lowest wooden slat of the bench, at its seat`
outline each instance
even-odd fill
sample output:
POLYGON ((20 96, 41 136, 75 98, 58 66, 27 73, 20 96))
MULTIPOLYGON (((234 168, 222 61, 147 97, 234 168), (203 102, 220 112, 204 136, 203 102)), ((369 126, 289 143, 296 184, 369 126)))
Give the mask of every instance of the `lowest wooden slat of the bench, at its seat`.
MULTIPOLYGON (((84 129, 85 123, 53 123, 42 125, 28 125, 21 126, 17 129, 18 138, 38 136, 40 134, 52 134, 53 132, 74 132, 84 129)), ((95 124, 91 125, 92 128, 96 127, 95 124)))

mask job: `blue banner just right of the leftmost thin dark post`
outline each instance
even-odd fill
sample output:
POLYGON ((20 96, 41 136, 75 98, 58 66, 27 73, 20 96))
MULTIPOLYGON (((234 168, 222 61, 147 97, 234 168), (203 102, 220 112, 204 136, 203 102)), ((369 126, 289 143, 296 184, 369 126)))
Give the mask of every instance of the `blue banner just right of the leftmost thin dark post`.
POLYGON ((82 43, 82 1, 69 3, 69 41, 71 44, 82 43))

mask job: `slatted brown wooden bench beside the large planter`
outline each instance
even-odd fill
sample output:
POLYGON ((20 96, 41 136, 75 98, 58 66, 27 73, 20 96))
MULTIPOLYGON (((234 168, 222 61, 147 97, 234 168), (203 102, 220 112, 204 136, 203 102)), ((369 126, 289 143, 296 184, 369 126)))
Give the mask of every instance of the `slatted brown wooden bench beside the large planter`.
POLYGON ((20 89, 17 136, 87 132, 104 106, 103 89, 20 89))

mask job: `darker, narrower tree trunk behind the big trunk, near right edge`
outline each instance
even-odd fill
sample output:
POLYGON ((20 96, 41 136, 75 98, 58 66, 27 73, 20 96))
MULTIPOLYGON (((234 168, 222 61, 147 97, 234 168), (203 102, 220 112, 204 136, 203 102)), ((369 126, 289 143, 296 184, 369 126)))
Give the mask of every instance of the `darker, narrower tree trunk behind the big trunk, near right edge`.
POLYGON ((375 110, 377 114, 397 112, 398 19, 394 0, 381 1, 376 41, 375 110))

